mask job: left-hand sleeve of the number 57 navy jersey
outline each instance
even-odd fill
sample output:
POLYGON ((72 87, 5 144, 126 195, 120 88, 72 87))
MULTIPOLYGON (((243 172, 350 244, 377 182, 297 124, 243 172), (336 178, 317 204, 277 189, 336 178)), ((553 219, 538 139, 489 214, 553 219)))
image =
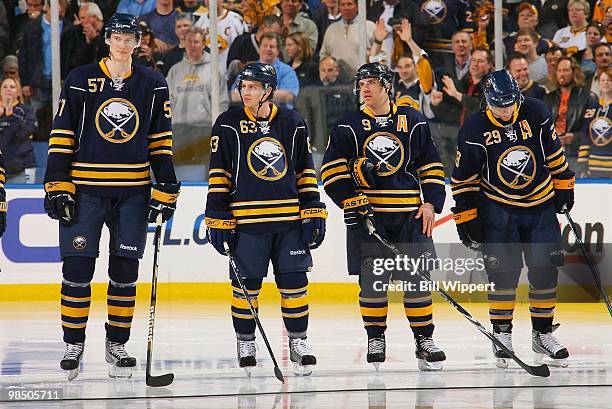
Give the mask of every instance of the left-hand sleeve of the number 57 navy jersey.
POLYGON ((64 82, 58 109, 51 125, 45 183, 70 181, 70 168, 77 145, 77 135, 81 128, 80 121, 86 92, 76 83, 74 77, 71 73, 64 82))

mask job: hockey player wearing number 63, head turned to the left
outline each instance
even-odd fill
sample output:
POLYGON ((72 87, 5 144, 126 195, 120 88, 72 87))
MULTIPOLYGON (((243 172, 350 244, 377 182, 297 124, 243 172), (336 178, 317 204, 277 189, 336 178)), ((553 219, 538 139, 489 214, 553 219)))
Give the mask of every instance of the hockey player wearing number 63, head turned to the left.
MULTIPOLYGON (((248 64, 238 77, 244 107, 215 122, 211 138, 206 225, 222 255, 225 243, 257 308, 272 261, 297 374, 316 364, 306 340, 306 272, 310 250, 325 237, 327 211, 320 201, 308 129, 289 109, 272 103, 277 76, 268 64, 248 64)), ((230 272, 230 278, 234 273, 230 272)), ((238 281, 232 279, 232 321, 238 362, 247 374, 256 365, 255 320, 238 281)))

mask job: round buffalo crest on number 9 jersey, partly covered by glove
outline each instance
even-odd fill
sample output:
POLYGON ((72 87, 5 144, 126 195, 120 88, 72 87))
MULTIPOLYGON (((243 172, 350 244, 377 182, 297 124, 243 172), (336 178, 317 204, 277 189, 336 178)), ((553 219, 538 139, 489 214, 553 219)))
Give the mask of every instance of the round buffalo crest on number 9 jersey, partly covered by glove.
POLYGON ((363 154, 377 164, 380 176, 394 174, 404 162, 402 143, 389 132, 370 135, 363 144, 363 154))

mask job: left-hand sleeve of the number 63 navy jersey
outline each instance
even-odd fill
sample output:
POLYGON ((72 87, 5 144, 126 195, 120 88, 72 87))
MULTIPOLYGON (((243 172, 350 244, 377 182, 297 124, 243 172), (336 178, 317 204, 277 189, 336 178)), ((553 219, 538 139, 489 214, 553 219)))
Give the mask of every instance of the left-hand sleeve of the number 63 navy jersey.
POLYGON ((208 196, 206 210, 229 211, 232 189, 233 138, 227 128, 221 126, 224 115, 219 116, 210 138, 210 170, 208 171, 208 196))

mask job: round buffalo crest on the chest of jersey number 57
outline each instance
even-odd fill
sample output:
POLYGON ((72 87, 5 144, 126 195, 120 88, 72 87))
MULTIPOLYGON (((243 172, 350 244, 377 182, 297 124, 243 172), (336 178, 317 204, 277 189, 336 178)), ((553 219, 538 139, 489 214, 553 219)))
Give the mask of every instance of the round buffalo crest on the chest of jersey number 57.
POLYGON ((96 112, 96 129, 109 142, 129 141, 138 131, 139 123, 136 107, 123 98, 105 101, 96 112))

